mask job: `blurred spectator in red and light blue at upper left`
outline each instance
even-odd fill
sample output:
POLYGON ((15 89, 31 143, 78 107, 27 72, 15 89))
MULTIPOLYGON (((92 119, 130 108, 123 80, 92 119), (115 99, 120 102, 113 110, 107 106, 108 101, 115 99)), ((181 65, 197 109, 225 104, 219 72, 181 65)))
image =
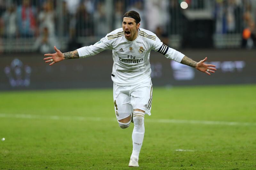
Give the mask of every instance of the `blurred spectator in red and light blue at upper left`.
POLYGON ((21 37, 32 37, 36 33, 36 9, 30 0, 23 0, 17 8, 17 22, 21 37))

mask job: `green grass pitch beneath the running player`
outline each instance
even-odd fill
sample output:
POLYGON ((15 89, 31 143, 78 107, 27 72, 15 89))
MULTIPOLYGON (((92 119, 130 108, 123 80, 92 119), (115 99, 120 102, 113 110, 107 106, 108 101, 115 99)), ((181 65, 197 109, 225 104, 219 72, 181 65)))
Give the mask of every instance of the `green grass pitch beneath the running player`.
POLYGON ((112 89, 0 92, 0 169, 256 169, 256 85, 154 88, 138 168, 112 89))

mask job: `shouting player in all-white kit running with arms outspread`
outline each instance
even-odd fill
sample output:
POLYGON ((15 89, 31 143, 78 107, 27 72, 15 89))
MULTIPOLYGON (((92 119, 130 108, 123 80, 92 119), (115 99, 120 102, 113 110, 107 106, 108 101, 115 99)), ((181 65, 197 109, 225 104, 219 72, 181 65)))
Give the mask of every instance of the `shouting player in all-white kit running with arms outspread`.
POLYGON ((215 65, 193 61, 184 54, 164 45, 156 34, 140 29, 140 15, 128 11, 123 17, 123 27, 108 33, 94 45, 82 47, 72 52, 61 53, 55 46, 56 53, 45 54, 45 63, 60 62, 66 59, 84 58, 96 55, 105 49, 113 54, 113 98, 115 114, 119 126, 128 128, 134 123, 132 132, 132 155, 129 166, 139 166, 139 153, 144 138, 144 116, 151 115, 152 83, 150 78, 149 55, 151 50, 162 53, 165 57, 186 64, 208 75, 215 72, 215 65))

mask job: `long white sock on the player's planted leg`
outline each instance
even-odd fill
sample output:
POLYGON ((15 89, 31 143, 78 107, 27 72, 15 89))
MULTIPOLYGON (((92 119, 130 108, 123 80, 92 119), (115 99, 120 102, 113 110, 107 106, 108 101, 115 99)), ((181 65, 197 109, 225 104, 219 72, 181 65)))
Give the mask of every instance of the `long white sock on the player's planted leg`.
POLYGON ((140 111, 133 112, 133 123, 134 128, 132 132, 132 155, 131 157, 135 157, 139 159, 140 149, 142 146, 145 127, 144 127, 144 113, 140 111))

